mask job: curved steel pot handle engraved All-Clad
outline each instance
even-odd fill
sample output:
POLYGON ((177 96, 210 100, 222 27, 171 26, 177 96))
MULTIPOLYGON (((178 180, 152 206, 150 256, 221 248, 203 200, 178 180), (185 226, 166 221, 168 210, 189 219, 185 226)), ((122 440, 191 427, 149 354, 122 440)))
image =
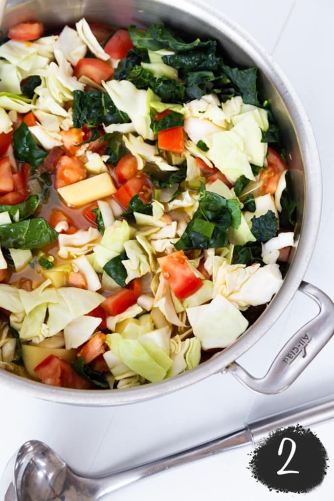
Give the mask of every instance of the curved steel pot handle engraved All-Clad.
POLYGON ((334 334, 334 303, 317 287, 301 282, 299 291, 319 306, 319 313, 301 327, 283 346, 262 378, 255 378, 237 362, 226 367, 244 386, 255 393, 273 395, 286 390, 334 334))

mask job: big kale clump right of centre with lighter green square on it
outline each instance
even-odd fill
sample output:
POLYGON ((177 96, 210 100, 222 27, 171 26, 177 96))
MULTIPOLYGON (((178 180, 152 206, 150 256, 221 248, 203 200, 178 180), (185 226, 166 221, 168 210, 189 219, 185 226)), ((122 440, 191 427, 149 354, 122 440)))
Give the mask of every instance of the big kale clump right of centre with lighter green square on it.
POLYGON ((204 190, 193 218, 174 246, 177 250, 225 247, 229 227, 238 228, 240 221, 241 211, 236 199, 226 200, 204 190))

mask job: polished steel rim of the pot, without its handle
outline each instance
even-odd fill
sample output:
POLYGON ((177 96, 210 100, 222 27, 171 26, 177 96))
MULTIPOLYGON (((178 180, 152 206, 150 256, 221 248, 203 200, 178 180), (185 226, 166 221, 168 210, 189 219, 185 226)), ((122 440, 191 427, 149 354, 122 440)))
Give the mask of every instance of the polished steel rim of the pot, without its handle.
MULTIPOLYGON (((157 4, 170 5, 169 0, 154 1, 157 4)), ((221 372, 255 344, 283 313, 306 272, 321 215, 321 170, 315 137, 303 104, 272 56, 238 24, 211 6, 206 5, 204 9, 198 0, 178 0, 177 8, 186 13, 191 11, 193 16, 205 20, 218 31, 223 31, 233 43, 244 49, 276 87, 289 112, 297 133, 304 166, 305 198, 299 241, 288 273, 265 314, 262 314, 244 335, 210 360, 174 378, 122 390, 73 390, 47 386, 8 371, 1 371, 0 382, 9 389, 19 390, 31 397, 70 405, 116 406, 142 402, 185 388, 221 372)))

